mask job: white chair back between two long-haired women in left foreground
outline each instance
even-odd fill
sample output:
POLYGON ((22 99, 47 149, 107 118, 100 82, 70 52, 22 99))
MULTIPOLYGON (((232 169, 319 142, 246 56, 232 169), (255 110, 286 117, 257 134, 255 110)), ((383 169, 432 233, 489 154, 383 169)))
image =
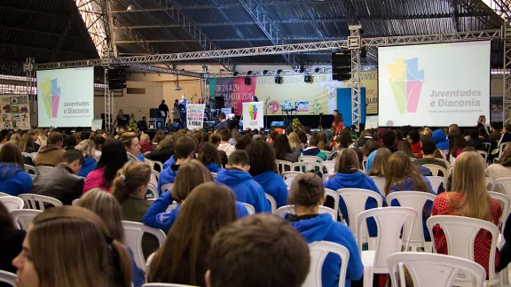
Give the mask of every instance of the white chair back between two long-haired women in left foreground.
POLYGON ((165 242, 165 232, 161 229, 153 229, 140 222, 122 221, 122 228, 124 229, 125 244, 130 246, 131 251, 135 257, 135 262, 138 268, 145 270, 144 252, 142 252, 142 236, 144 233, 150 233, 158 239, 158 243, 165 242))

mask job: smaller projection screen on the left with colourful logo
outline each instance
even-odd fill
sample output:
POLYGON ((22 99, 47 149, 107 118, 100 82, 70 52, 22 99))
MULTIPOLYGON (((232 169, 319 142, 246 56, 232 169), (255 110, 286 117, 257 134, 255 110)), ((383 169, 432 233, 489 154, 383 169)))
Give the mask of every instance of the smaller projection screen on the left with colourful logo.
POLYGON ((39 127, 90 127, 94 118, 93 100, 92 67, 37 71, 39 127))

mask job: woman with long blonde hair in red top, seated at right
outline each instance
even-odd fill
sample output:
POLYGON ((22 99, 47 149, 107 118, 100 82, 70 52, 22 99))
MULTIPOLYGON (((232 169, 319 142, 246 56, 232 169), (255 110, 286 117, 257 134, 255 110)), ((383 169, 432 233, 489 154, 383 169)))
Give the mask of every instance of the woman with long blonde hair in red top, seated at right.
MULTIPOLYGON (((461 152, 456 158, 452 171, 452 191, 436 196, 431 215, 458 215, 490 221, 499 225, 502 209, 499 201, 493 199, 486 190, 484 168, 486 165, 477 151, 461 152)), ((444 231, 433 228, 437 253, 447 254, 447 241, 444 231)), ((474 260, 486 270, 490 260, 491 235, 479 232, 474 242, 474 260)), ((499 266, 500 254, 495 253, 495 266, 499 266)))

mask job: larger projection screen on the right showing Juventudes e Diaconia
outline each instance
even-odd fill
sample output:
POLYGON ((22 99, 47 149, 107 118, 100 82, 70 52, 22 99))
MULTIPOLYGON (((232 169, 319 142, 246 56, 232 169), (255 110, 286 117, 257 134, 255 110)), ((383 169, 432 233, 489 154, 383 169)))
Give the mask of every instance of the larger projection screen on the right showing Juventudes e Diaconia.
POLYGON ((490 41, 378 48, 378 125, 474 127, 490 119, 490 41))

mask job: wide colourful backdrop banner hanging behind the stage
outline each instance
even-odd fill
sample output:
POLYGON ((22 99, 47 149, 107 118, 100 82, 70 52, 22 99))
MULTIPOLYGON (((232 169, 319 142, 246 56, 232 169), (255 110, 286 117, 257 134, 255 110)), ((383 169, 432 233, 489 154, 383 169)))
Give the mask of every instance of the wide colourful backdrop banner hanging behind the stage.
MULTIPOLYGON (((282 83, 276 84, 274 76, 212 78, 209 81, 209 97, 224 97, 224 105, 233 108, 234 113, 243 112, 243 103, 252 102, 257 96, 266 103, 266 113, 279 115, 282 106, 294 108, 298 114, 332 114, 337 108, 337 89, 347 88, 348 81, 333 81, 332 74, 312 74, 312 82, 303 81, 303 74, 282 76, 282 83)), ((367 114, 378 112, 377 72, 361 73, 362 86, 366 87, 367 114)))

